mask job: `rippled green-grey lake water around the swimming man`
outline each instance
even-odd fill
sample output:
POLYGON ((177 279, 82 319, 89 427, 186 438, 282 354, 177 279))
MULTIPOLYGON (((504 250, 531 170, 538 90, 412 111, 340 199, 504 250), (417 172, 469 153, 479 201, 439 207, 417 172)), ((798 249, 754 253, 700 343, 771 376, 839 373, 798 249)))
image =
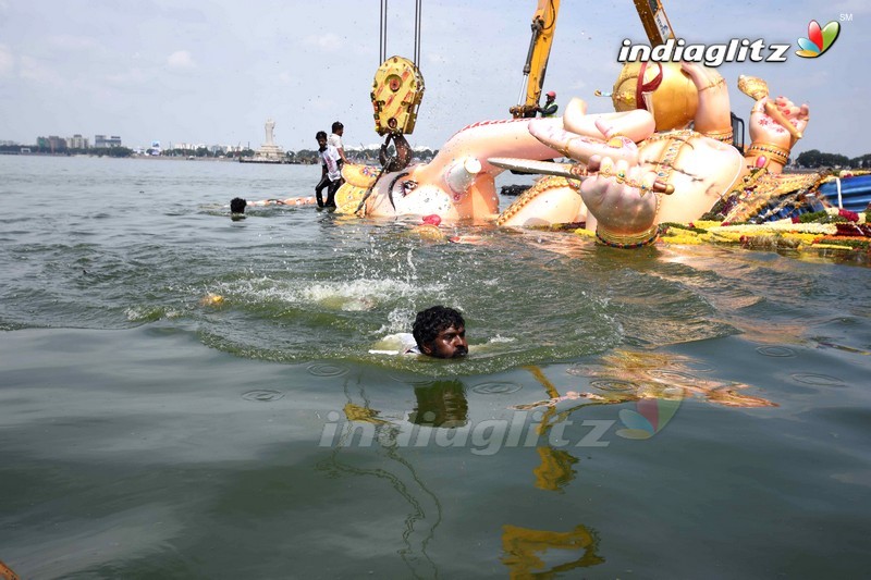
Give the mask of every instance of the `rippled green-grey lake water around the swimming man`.
POLYGON ((868 573, 871 269, 228 215, 319 173, 0 157, 22 578, 868 573), (466 360, 369 353, 433 304, 466 360))

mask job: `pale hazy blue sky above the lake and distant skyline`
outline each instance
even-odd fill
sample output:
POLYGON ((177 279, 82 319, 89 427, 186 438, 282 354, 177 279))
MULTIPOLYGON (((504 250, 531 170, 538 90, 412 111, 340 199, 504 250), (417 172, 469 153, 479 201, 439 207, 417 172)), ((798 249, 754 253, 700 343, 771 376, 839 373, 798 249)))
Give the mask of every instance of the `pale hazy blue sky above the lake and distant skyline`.
MULTIPOLYGON (((413 145, 440 147, 466 124, 504 119, 517 100, 533 0, 424 0, 420 70, 426 94, 413 145)), ((732 63, 719 71, 732 109, 751 101, 739 74, 773 95, 808 102, 811 122, 795 152, 871 152, 871 4, 831 1, 665 0, 687 42, 762 38, 790 44, 785 63, 732 63), (795 55, 808 23, 841 20, 841 36, 818 59, 795 55)), ((414 52, 413 0, 392 0, 388 54, 414 52)), ((379 62, 376 0, 0 0, 0 140, 37 136, 124 145, 160 140, 259 146, 275 121, 285 149, 312 148, 318 129, 345 124, 345 145, 373 144, 369 101, 379 62)), ((621 41, 646 40, 631 0, 563 0, 547 76, 564 106, 612 110, 621 41)))

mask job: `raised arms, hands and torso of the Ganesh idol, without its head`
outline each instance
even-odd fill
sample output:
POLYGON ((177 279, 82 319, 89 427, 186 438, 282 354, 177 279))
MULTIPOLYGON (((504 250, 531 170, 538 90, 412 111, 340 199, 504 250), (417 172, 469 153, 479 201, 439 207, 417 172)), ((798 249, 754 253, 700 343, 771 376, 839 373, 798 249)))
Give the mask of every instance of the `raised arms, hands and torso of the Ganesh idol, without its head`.
POLYGON ((655 103, 653 112, 636 109, 587 116, 584 103, 574 101, 562 128, 530 123, 530 132, 542 143, 579 161, 572 173, 582 180, 587 229, 594 229, 604 244, 651 243, 659 223, 698 219, 751 171, 780 174, 807 125, 807 106, 797 107, 783 97, 772 101, 762 95, 764 83, 743 78, 743 89, 758 100, 750 115, 752 144, 741 156, 729 145, 729 100, 723 77, 689 63, 680 71, 698 95, 692 131, 666 124, 671 131, 655 132, 651 125, 662 125, 655 103), (608 139, 605 149, 600 135, 608 139))

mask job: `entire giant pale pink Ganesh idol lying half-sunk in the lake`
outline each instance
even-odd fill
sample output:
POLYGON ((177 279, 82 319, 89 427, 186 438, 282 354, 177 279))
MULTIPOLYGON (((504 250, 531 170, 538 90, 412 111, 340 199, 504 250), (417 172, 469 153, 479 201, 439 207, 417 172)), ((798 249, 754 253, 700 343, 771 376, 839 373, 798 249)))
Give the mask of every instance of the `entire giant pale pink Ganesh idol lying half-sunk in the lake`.
POLYGON ((616 112, 587 114, 586 103, 575 99, 561 119, 469 125, 430 163, 381 174, 347 166, 340 211, 496 219, 507 226, 586 222, 605 244, 643 245, 655 239, 661 222, 698 219, 749 171, 781 172, 807 125, 808 108, 770 99, 759 83, 743 87, 757 99, 752 144, 744 156, 731 145, 729 97, 719 73, 692 63, 629 64, 615 85, 616 112), (659 76, 655 88, 634 92, 650 87, 649 76, 659 76), (578 163, 540 162, 560 157, 578 163), (562 176, 542 180, 496 215, 494 177, 524 166, 562 176))

